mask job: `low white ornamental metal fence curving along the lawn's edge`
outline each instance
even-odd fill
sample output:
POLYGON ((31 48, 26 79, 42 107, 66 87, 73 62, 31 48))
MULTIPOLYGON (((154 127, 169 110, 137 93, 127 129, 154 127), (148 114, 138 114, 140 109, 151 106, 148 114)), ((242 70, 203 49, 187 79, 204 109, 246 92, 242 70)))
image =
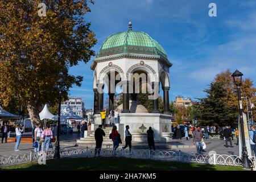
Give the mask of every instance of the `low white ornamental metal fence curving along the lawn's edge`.
MULTIPOLYGON (((64 149, 60 151, 61 158, 93 158, 100 153, 104 157, 124 157, 134 159, 151 159, 151 160, 163 160, 172 162, 183 163, 202 163, 213 164, 222 166, 242 166, 242 159, 236 155, 220 155, 209 154, 201 155, 194 154, 192 152, 182 151, 166 151, 166 150, 122 150, 117 148, 115 154, 113 148, 101 148, 101 150, 95 150, 94 148, 75 148, 64 149)), ((11 156, 2 156, 0 159, 0 167, 13 166, 23 163, 38 162, 42 160, 43 154, 37 154, 35 152, 28 152, 26 154, 18 154, 11 156)), ((53 159, 54 151, 48 151, 44 159, 53 159)), ((251 169, 255 169, 255 156, 250 160, 251 169)))

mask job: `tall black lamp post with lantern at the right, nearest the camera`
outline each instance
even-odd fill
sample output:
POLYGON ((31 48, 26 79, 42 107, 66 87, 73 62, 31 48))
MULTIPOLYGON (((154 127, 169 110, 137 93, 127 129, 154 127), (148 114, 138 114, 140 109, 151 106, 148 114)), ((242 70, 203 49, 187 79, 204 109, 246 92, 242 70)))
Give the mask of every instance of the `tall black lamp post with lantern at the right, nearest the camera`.
POLYGON ((240 123, 241 123, 241 137, 242 137, 242 159, 243 159, 243 167, 244 168, 251 168, 250 162, 248 159, 248 152, 245 145, 245 129, 243 127, 243 109, 242 109, 242 100, 241 100, 241 89, 240 86, 242 85, 242 76, 243 73, 236 70, 232 77, 234 78, 234 84, 237 86, 237 93, 238 93, 238 105, 239 105, 239 114, 240 114, 240 123))

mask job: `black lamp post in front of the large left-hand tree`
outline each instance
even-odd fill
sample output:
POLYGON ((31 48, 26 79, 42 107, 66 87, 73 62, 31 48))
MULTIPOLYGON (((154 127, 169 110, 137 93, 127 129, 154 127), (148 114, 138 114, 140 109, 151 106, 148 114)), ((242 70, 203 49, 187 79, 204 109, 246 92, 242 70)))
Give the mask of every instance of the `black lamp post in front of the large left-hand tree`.
POLYGON ((60 107, 61 107, 61 86, 63 83, 63 78, 57 81, 59 85, 59 107, 58 107, 58 120, 57 120, 57 142, 55 147, 55 153, 53 159, 60 159, 60 107))

